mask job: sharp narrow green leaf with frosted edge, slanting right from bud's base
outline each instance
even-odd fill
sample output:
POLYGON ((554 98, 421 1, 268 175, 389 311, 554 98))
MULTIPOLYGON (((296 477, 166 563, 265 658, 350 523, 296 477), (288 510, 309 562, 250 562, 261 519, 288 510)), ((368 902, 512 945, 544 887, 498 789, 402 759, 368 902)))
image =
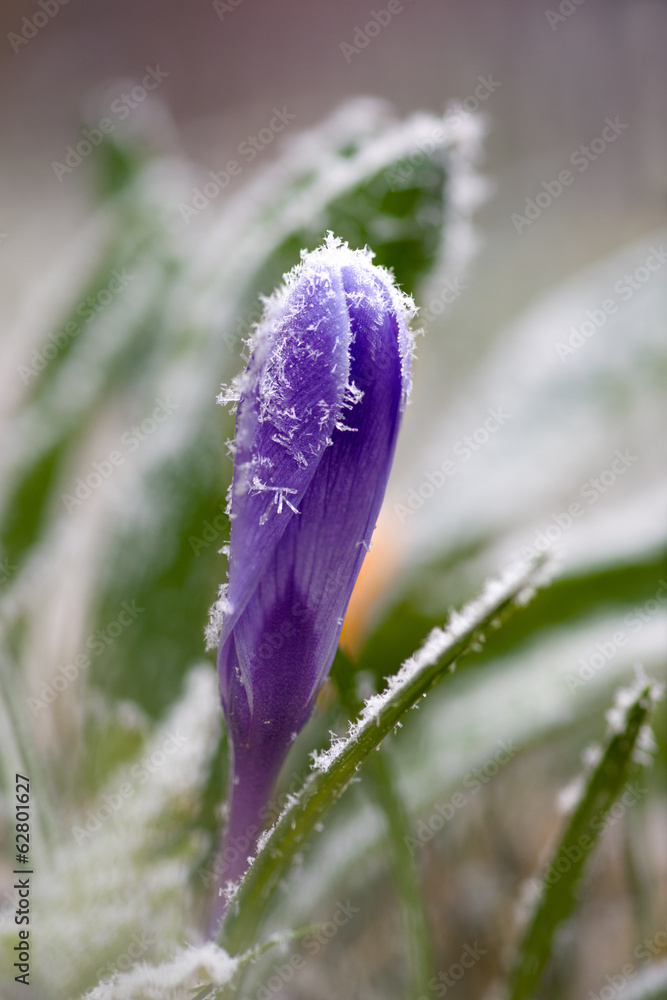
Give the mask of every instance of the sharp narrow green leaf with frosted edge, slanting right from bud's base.
POLYGON ((491 581, 482 595, 454 613, 445 630, 434 629, 423 646, 374 695, 344 739, 316 757, 300 792, 293 796, 275 826, 260 842, 257 857, 233 893, 220 942, 231 954, 250 946, 262 911, 316 824, 343 794, 364 760, 419 705, 457 660, 483 641, 485 632, 501 624, 517 604, 532 597, 542 582, 541 562, 515 567, 504 579, 491 581))

